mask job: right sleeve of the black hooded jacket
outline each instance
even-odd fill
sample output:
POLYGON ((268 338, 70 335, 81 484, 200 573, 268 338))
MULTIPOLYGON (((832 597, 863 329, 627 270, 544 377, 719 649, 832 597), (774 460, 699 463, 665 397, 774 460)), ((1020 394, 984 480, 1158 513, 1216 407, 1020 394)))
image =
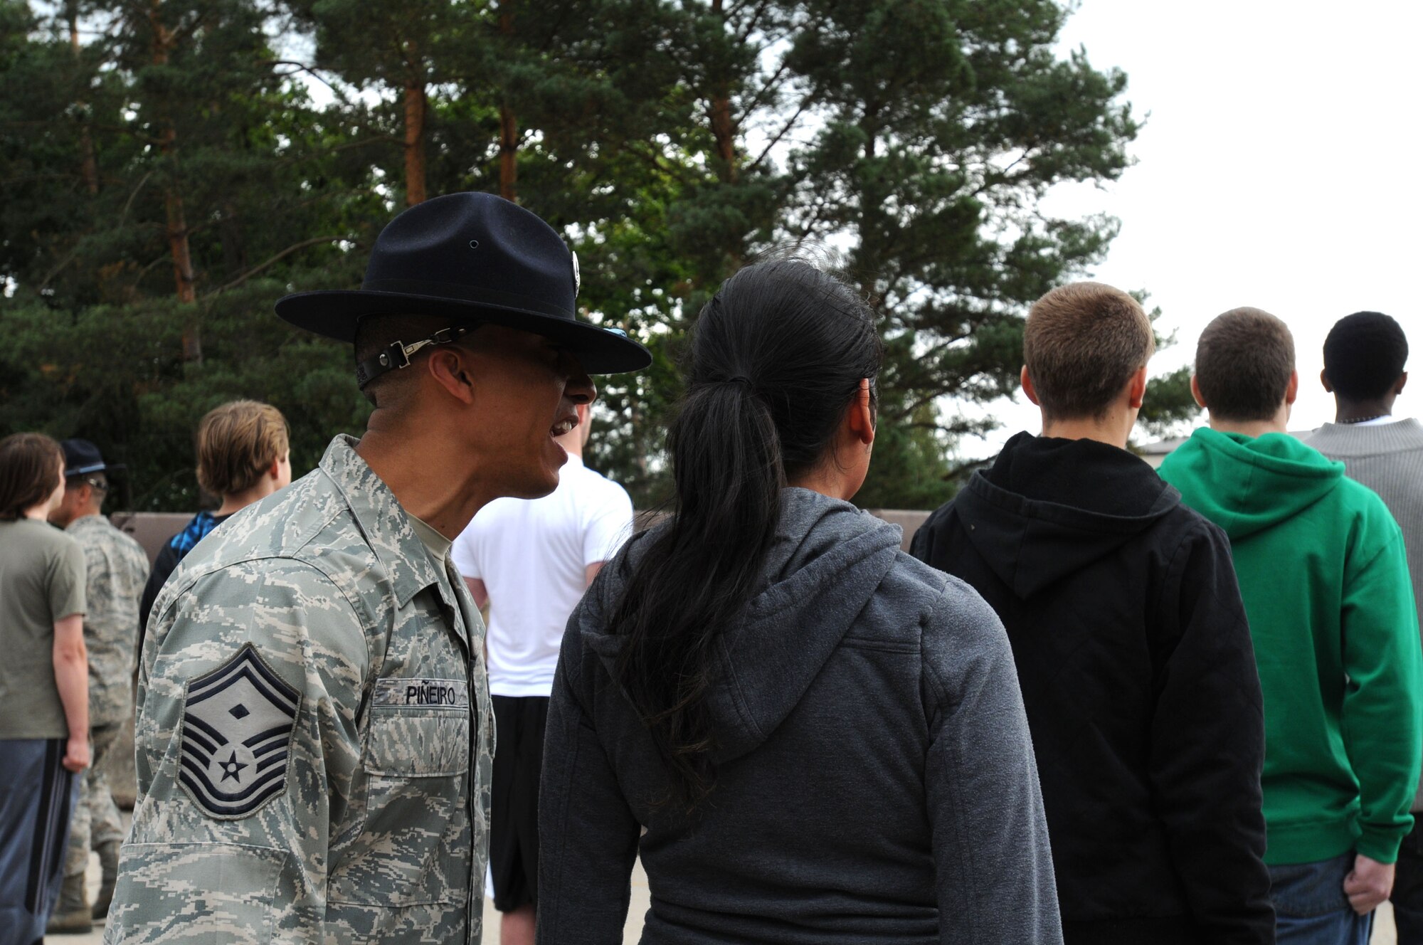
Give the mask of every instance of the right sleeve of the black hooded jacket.
POLYGON ((1171 857, 1210 941, 1274 942, 1261 811, 1264 706, 1229 544, 1218 528, 1178 548, 1163 595, 1168 639, 1158 645, 1148 771, 1171 857))

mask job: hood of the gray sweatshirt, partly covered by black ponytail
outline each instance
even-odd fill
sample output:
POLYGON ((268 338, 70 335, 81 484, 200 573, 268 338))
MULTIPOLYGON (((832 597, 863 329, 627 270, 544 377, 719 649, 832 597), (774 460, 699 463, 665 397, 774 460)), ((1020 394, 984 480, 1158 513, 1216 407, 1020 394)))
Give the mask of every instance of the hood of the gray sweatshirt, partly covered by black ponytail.
MULTIPOLYGON (((610 581, 599 582, 595 611, 579 609, 579 633, 616 679, 623 638, 608 632, 629 566, 647 532, 619 555, 610 581)), ((800 703, 820 669, 859 616, 899 555, 898 525, 850 502, 803 488, 781 490, 781 521, 766 559, 766 585, 717 642, 719 673, 709 696, 713 763, 761 744, 800 703)))

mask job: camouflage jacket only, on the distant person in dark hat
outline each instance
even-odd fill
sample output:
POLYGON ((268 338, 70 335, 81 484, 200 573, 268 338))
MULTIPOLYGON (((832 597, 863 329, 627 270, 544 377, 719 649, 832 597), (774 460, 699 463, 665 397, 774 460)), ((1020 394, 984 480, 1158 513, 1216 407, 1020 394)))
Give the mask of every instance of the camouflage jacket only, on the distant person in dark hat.
POLYGON ((84 549, 84 646, 90 663, 90 726, 118 724, 134 712, 134 642, 148 555, 102 515, 65 528, 84 549))

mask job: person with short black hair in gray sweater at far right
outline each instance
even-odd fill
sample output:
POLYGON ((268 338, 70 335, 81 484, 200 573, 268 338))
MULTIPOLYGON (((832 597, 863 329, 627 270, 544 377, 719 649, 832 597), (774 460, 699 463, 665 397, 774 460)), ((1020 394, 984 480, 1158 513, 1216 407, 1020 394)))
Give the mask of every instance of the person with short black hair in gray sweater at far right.
MULTIPOLYGON (((1409 340, 1379 312, 1339 319, 1325 339, 1325 390, 1335 396, 1335 421, 1305 443, 1345 464, 1345 474, 1379 494, 1403 531, 1413 598, 1423 602, 1423 424, 1393 416, 1409 380, 1409 340)), ((1423 609, 1419 616, 1423 618, 1423 609)), ((1399 945, 1423 945, 1423 786, 1413 797, 1414 827, 1399 848, 1393 919, 1399 945)))

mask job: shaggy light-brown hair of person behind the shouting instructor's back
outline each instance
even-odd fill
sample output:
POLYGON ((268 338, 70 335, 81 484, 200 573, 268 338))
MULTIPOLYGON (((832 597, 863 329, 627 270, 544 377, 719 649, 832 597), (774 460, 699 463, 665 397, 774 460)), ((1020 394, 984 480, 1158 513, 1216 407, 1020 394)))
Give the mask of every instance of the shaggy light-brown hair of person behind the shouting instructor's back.
POLYGON ((198 424, 198 485, 212 495, 246 492, 289 448, 286 417, 272 404, 222 404, 198 424))

